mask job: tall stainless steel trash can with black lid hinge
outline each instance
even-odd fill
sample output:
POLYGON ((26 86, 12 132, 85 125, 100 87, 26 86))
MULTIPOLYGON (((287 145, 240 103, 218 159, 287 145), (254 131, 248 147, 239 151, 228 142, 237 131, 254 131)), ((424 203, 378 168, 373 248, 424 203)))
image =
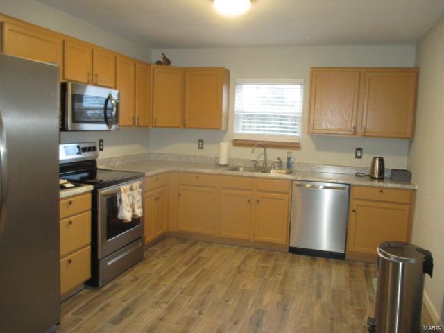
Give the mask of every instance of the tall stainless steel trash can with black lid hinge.
POLYGON ((378 280, 375 318, 368 330, 376 333, 421 332, 424 274, 432 277, 432 253, 419 246, 388 241, 377 248, 378 280))

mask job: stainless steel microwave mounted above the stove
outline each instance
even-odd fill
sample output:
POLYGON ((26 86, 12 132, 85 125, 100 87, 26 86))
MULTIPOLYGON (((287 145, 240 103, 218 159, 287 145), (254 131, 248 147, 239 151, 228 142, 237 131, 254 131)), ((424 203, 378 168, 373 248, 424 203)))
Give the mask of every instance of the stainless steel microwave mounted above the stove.
POLYGON ((82 83, 62 83, 62 130, 117 130, 119 91, 82 83))

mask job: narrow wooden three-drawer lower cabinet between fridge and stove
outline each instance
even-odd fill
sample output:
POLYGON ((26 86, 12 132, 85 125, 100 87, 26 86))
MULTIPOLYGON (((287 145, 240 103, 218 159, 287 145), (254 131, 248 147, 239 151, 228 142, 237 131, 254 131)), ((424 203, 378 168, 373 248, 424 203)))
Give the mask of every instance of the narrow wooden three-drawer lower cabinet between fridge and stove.
POLYGON ((91 277, 91 194, 60 200, 60 294, 71 295, 91 277))

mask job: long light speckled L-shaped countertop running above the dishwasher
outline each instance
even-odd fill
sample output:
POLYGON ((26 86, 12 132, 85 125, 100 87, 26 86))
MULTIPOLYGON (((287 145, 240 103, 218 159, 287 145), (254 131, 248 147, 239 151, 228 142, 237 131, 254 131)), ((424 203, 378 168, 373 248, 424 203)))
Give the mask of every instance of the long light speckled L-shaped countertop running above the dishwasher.
POLYGON ((391 187, 395 189, 417 189, 416 184, 413 182, 398 182, 390 179, 376 180, 376 179, 371 179, 368 176, 358 177, 355 175, 350 175, 345 173, 323 173, 323 172, 296 170, 291 175, 272 175, 269 173, 267 174, 259 172, 230 171, 229 170, 230 167, 234 167, 234 165, 229 165, 228 167, 221 167, 214 164, 148 160, 145 162, 121 164, 113 168, 104 167, 104 169, 143 172, 145 173, 146 177, 155 176, 157 174, 168 171, 182 171, 182 172, 213 173, 213 174, 220 174, 227 176, 273 178, 273 179, 287 179, 287 180, 307 180, 311 182, 339 182, 350 185, 391 187))

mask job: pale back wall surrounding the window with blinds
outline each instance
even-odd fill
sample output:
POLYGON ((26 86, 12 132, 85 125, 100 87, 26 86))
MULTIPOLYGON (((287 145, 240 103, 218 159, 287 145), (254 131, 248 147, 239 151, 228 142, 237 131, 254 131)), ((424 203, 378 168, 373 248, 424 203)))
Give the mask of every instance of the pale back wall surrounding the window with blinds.
MULTIPOLYGON (((405 168, 409 142, 398 139, 364 139, 353 137, 309 136, 309 70, 315 66, 411 67, 415 46, 300 46, 214 49, 155 49, 152 60, 165 52, 178 66, 224 66, 231 71, 230 125, 227 132, 218 130, 150 131, 150 150, 162 153, 214 155, 223 139, 232 140, 234 84, 236 78, 305 78, 302 148, 293 151, 297 162, 369 167, 373 156, 383 156, 388 168, 405 168), (205 148, 197 149, 197 140, 205 148), (355 159, 355 148, 364 148, 364 158, 355 159)), ((232 157, 253 157, 249 148, 230 147, 232 157)), ((271 150, 269 157, 285 157, 285 150, 271 150)))

